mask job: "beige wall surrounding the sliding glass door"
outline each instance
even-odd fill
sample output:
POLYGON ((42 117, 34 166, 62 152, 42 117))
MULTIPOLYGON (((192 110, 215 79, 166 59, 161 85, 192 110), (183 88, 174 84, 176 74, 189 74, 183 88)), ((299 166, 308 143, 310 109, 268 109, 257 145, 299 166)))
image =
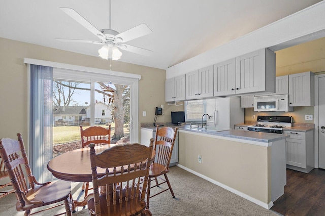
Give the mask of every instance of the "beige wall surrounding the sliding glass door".
MULTIPOLYGON (((87 56, 24 42, 0 38, 0 138, 16 139, 16 133, 27 138, 27 66, 24 58, 109 69, 109 62, 87 56)), ((136 54, 135 54, 136 55, 136 54)), ((123 59, 123 56, 122 56, 123 59)), ((139 81, 139 122, 153 122, 155 107, 164 105, 164 115, 157 121, 170 122, 170 111, 183 107, 165 103, 166 70, 113 61, 112 70, 141 75, 139 81), (142 116, 147 111, 147 116, 142 116)), ((25 141, 26 142, 26 141, 25 141)))

